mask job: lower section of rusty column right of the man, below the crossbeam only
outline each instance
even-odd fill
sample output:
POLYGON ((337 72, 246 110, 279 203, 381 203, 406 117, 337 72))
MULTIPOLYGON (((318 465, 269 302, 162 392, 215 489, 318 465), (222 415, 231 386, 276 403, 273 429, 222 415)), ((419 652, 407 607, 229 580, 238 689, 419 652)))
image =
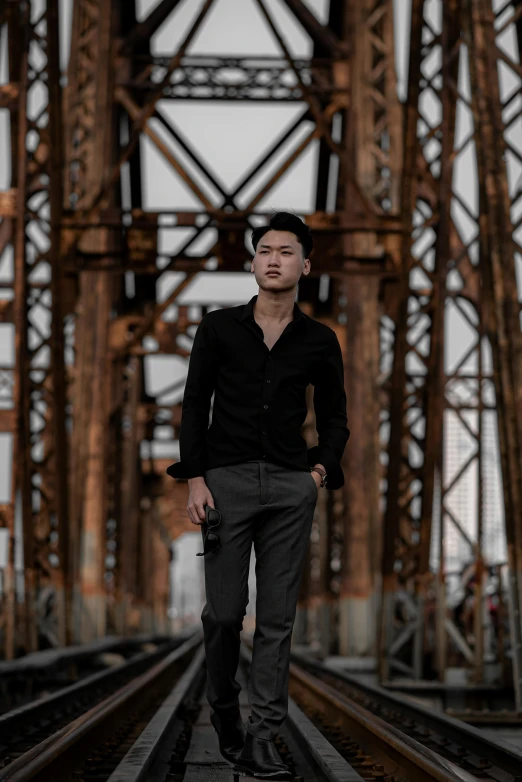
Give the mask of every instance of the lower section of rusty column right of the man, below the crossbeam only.
POLYGON ((379 526, 379 280, 353 274, 341 291, 349 344, 345 387, 351 447, 343 459, 346 516, 339 640, 341 654, 365 655, 372 654, 375 645, 372 551, 379 526))

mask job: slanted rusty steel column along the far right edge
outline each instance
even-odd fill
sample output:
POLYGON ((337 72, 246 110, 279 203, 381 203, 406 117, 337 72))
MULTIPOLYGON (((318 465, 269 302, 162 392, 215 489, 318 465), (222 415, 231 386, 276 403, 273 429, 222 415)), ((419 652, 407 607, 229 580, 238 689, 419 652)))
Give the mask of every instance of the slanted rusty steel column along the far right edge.
POLYGON ((510 630, 522 707, 522 332, 491 3, 467 0, 473 115, 479 144, 481 269, 493 350, 508 542, 510 630))

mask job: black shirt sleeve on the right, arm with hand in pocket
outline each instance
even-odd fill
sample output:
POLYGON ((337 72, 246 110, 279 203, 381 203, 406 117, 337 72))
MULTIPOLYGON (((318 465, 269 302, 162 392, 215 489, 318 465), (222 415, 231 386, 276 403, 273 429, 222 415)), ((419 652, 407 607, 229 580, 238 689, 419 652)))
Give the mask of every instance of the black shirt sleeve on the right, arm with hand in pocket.
POLYGON ((341 459, 350 437, 346 415, 344 366, 341 346, 332 332, 329 350, 317 368, 314 382, 314 411, 318 444, 308 449, 308 464, 323 464, 328 474, 327 487, 344 486, 341 459))

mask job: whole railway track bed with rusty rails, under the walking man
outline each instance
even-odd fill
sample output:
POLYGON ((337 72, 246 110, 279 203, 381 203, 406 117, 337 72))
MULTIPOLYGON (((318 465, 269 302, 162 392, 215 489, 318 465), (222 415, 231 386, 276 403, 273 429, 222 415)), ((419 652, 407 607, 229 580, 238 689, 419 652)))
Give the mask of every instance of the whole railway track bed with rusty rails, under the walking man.
MULTIPOLYGON (((487 739, 479 729, 443 718, 471 734, 475 744, 461 743, 461 733, 448 741, 440 733, 440 715, 428 712, 428 726, 422 708, 380 688, 369 693, 318 663, 304 658, 301 665, 295 658, 288 719, 276 739, 295 782, 521 782, 522 755, 487 739), (380 700, 381 694, 393 703, 380 700)), ((243 646, 238 677, 244 719, 249 662, 250 652, 243 646)), ((0 771, 0 782, 240 782, 245 777, 234 775, 219 755, 204 683, 204 650, 197 633, 12 759, 0 771)))

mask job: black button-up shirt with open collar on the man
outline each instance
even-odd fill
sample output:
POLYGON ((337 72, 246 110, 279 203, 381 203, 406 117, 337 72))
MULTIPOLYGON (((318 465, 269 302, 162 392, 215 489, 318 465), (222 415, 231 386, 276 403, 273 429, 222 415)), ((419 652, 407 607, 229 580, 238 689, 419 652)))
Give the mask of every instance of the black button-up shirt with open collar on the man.
POLYGON ((252 459, 297 470, 323 464, 328 488, 338 489, 344 485, 341 457, 350 431, 337 335, 294 302, 294 319, 269 350, 254 320, 256 299, 201 319, 183 396, 180 461, 167 473, 194 478, 252 459), (309 383, 318 434, 318 445, 310 448, 301 434, 309 383))

